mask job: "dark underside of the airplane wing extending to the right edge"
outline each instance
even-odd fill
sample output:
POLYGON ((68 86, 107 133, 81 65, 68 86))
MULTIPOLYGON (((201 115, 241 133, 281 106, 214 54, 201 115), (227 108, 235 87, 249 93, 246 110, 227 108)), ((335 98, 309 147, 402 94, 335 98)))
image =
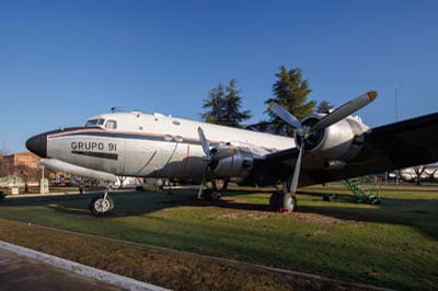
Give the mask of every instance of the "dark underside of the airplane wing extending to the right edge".
MULTIPOLYGON (((298 149, 288 149, 265 156, 268 168, 278 167, 278 175, 290 175, 298 149), (272 166, 269 166, 272 165, 272 166)), ((304 156, 311 160, 311 156, 304 156)), ((365 133, 364 147, 345 167, 302 168, 300 186, 339 181, 384 171, 438 161, 438 113, 373 128, 365 133)), ((322 161, 320 161, 322 162, 322 161)))

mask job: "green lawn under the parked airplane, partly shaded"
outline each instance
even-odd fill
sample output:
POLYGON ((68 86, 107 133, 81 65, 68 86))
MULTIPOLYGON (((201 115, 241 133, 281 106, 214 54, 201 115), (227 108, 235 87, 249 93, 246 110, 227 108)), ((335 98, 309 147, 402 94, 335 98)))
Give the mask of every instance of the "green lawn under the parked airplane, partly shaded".
POLYGON ((194 191, 113 194, 115 212, 99 219, 90 197, 22 198, 0 203, 0 218, 165 246, 403 290, 438 282, 438 193, 384 189, 380 206, 322 201, 313 187, 299 212, 266 211, 266 193, 230 193, 196 201, 194 191))

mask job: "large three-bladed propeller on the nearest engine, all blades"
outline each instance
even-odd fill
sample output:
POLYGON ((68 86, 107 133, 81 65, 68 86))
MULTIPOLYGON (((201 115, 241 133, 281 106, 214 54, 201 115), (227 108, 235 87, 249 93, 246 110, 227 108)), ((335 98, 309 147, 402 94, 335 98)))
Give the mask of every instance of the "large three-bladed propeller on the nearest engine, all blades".
POLYGON ((302 155, 304 154, 306 140, 314 131, 325 129, 325 128, 336 124, 337 121, 341 121, 345 117, 351 115, 353 113, 359 110, 364 106, 371 103, 373 100, 376 100, 376 97, 377 97, 377 92, 369 91, 369 92, 345 103, 344 105, 337 107, 332 113, 330 113, 330 114, 325 115, 323 118, 321 118, 312 127, 303 126, 301 124, 301 121, 298 120, 297 117, 295 117, 292 114, 290 114, 288 110, 286 110, 284 107, 281 107, 277 103, 272 102, 269 104, 269 109, 275 115, 277 115, 281 120, 284 120, 286 124, 288 124, 292 128, 295 128, 296 135, 298 135, 301 138, 300 152, 298 154, 297 163, 296 163, 295 170, 293 170, 292 181, 290 183, 290 193, 295 194, 297 191, 298 181, 299 181, 300 171, 301 171, 301 160, 302 160, 302 155))

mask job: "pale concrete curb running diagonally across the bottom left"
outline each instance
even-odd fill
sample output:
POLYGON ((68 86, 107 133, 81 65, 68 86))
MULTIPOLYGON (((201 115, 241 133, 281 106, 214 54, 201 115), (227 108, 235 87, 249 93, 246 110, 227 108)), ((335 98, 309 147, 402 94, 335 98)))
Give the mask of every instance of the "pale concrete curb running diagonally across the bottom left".
POLYGON ((10 244, 3 241, 0 241, 0 248, 15 253, 18 255, 33 258, 51 266, 55 266, 60 269, 69 270, 81 276, 87 276, 108 284, 117 286, 126 290, 132 291, 169 291, 169 289, 164 289, 158 286, 149 284, 146 282, 137 281, 127 277, 123 277, 116 273, 107 272, 104 270, 100 270, 93 267, 89 267, 79 263, 74 263, 71 260, 67 260, 64 258, 55 257, 48 254, 44 254, 37 251, 33 251, 26 247, 18 246, 14 244, 10 244))

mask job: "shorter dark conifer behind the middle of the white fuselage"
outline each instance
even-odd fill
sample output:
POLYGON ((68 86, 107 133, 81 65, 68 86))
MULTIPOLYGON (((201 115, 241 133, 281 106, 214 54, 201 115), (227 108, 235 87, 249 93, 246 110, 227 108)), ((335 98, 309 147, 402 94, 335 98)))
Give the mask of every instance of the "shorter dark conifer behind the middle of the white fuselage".
POLYGON ((230 127, 242 127, 242 121, 251 118, 250 110, 242 110, 242 97, 235 88, 237 81, 231 79, 227 86, 219 83, 214 88, 206 100, 201 114, 204 121, 230 127))

